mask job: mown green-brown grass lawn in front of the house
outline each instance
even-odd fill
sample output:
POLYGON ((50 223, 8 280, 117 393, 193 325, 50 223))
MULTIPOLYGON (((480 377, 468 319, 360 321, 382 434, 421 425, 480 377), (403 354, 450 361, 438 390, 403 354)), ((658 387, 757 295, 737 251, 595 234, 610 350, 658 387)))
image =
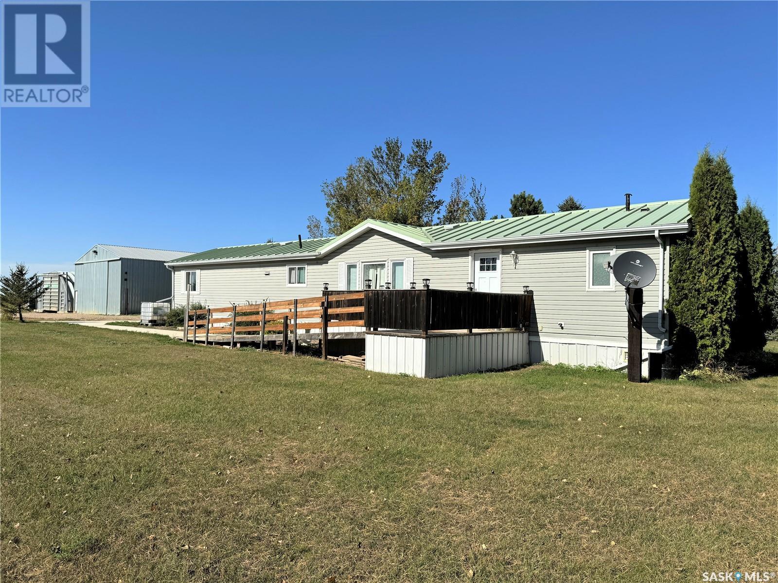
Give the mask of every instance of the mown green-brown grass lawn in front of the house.
POLYGON ((702 581, 778 567, 776 378, 424 380, 2 324, 5 581, 702 581))

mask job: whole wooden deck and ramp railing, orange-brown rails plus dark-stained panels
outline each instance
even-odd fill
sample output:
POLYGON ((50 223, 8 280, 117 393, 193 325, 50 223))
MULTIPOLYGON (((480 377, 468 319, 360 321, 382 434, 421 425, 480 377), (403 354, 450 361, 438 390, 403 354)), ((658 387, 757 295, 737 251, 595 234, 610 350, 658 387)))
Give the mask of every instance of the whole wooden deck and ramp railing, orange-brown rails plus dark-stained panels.
POLYGON ((363 292, 324 289, 322 295, 281 302, 230 305, 187 312, 182 340, 240 347, 280 343, 296 354, 317 342, 328 358, 328 340, 363 339, 366 330, 394 336, 526 330, 532 297, 526 294, 398 289, 363 292), (350 330, 349 330, 350 329, 350 330), (356 330, 355 330, 356 329, 356 330))

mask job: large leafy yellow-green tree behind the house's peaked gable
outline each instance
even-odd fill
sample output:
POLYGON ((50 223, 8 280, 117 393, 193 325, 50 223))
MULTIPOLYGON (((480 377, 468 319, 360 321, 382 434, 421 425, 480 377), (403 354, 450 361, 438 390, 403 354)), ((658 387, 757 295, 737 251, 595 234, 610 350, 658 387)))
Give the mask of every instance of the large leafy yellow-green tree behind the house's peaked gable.
POLYGON ((443 201, 435 196, 448 168, 429 140, 415 139, 406 156, 399 138, 387 138, 370 158, 358 158, 345 176, 321 185, 327 202, 327 232, 340 235, 366 218, 432 225, 443 201))

